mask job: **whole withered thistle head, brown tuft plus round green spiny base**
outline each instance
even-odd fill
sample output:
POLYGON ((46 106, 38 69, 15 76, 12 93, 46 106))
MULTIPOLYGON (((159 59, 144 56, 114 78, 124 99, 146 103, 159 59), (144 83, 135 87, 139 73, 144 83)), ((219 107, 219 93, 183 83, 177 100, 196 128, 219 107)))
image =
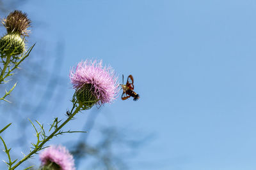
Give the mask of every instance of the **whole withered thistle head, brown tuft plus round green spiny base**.
POLYGON ((2 24, 6 28, 7 34, 0 39, 0 52, 6 55, 19 55, 25 51, 24 38, 28 36, 28 28, 31 20, 26 13, 22 11, 13 11, 7 18, 4 18, 2 24))

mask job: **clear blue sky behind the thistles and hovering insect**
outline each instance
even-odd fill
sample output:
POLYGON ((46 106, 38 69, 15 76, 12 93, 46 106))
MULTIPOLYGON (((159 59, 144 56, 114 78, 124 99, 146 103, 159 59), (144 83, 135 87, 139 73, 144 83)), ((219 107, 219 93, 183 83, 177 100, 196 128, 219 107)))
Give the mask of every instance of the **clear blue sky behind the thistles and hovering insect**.
MULTIPOLYGON (((19 10, 36 24, 37 48, 40 37, 48 48, 65 44, 62 111, 74 92, 68 71, 80 60, 102 59, 120 81, 134 76, 141 99, 118 98, 100 113, 111 112, 120 129, 154 134, 131 169, 256 168, 256 1, 47 0, 19 10)), ((84 115, 70 127, 79 130, 84 115)))

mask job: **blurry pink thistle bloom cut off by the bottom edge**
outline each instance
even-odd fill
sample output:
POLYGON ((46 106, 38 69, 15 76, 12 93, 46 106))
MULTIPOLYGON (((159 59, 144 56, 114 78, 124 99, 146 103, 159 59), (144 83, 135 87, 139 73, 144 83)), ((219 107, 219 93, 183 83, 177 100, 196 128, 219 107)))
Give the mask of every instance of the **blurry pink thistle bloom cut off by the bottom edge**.
POLYGON ((75 170, 73 156, 64 146, 49 146, 39 155, 42 165, 57 164, 60 170, 75 170))

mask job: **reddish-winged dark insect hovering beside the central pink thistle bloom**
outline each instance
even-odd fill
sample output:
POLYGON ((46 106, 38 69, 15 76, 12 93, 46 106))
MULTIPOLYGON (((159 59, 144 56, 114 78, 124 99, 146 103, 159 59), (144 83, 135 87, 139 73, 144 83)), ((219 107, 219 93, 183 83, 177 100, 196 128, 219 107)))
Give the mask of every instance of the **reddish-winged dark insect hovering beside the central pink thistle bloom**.
POLYGON ((127 78, 127 82, 126 85, 124 85, 124 74, 123 74, 123 84, 120 85, 123 89, 123 94, 121 99, 124 101, 126 99, 128 99, 129 97, 133 97, 134 101, 137 101, 138 99, 140 99, 140 96, 138 94, 136 94, 136 92, 134 92, 134 85, 133 85, 133 77, 132 75, 129 75, 127 78))

